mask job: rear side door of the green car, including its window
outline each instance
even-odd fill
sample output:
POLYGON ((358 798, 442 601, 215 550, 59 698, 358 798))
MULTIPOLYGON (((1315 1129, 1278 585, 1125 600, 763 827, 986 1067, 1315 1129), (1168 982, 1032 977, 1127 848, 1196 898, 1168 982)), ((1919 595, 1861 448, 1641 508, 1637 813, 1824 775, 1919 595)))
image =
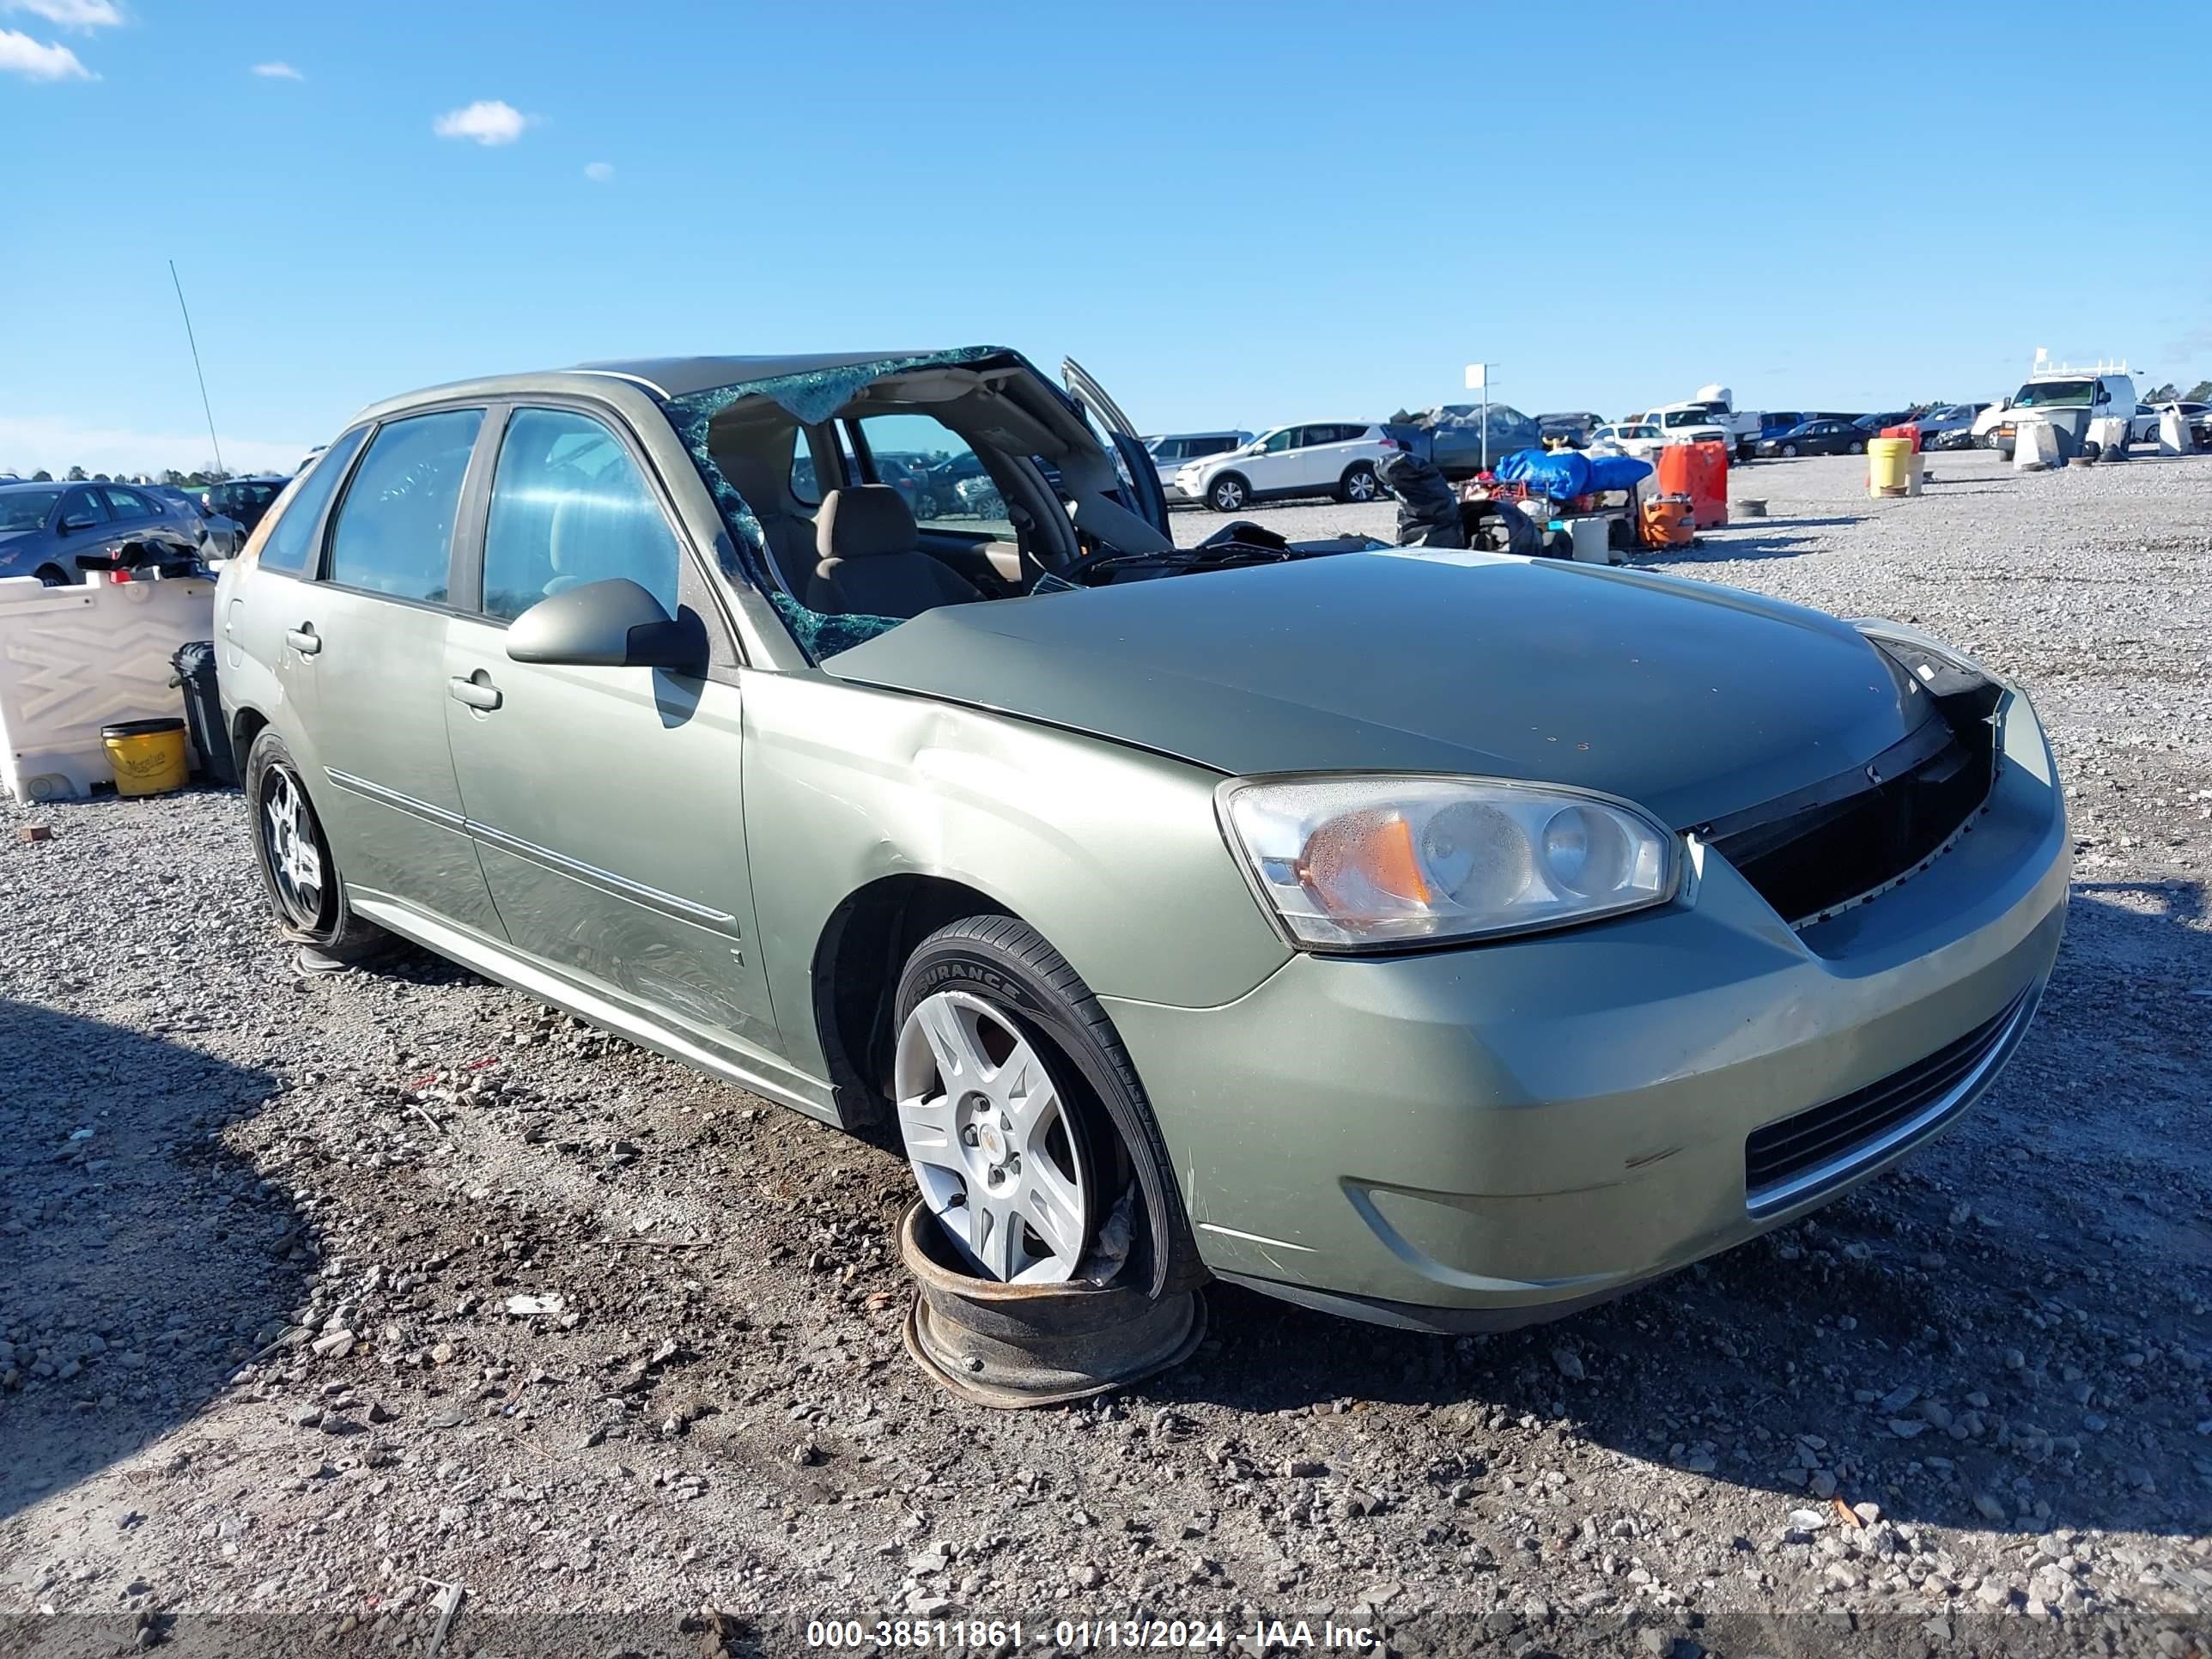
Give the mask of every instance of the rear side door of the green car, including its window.
POLYGON ((356 907, 498 938, 445 741, 453 529, 482 427, 480 407, 383 422, 319 577, 285 584, 276 622, 321 770, 307 792, 356 907))

